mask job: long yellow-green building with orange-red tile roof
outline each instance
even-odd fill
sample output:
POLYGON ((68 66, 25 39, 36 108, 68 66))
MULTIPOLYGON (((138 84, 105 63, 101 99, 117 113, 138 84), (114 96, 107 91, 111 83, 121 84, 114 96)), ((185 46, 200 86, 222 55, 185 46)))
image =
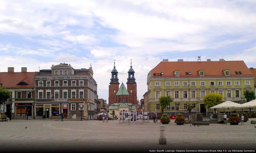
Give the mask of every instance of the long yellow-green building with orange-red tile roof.
POLYGON ((164 110, 169 115, 187 112, 188 103, 197 103, 192 112, 207 110, 203 98, 218 93, 223 101, 246 102, 243 91, 254 90, 254 76, 243 61, 168 62, 163 60, 147 76, 147 108, 160 114, 159 97, 170 96, 173 102, 164 110), (176 103, 176 104, 175 104, 176 103))

